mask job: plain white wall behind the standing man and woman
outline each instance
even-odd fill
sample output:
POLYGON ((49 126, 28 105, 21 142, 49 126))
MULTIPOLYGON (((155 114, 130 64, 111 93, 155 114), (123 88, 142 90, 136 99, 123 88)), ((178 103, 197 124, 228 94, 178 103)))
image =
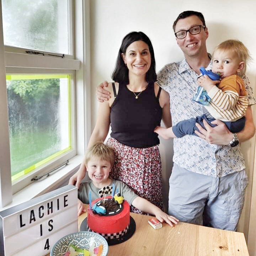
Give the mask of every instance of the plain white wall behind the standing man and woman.
MULTIPOLYGON (((102 81, 111 81, 111 72, 117 58, 122 38, 131 31, 143 31, 151 39, 155 51, 156 70, 167 63, 181 60, 183 54, 178 48, 172 30, 172 24, 182 11, 194 10, 203 13, 209 31, 207 40, 208 52, 225 39, 236 38, 250 50, 254 61, 247 74, 251 84, 256 81, 256 24, 255 0, 92 0, 91 1, 91 86, 92 108, 97 108, 95 87, 102 81)), ((96 115, 92 117, 95 124, 96 115)), ((250 184, 247 188, 245 213, 240 224, 240 231, 247 236, 248 218, 250 215, 250 195, 254 154, 254 139, 243 145, 246 154, 247 173, 250 184), (249 146, 249 149, 248 149, 249 146), (249 195, 248 195, 249 193, 249 195)), ((162 142, 161 158, 165 195, 168 191, 167 178, 170 175, 172 162, 172 141, 162 142)))

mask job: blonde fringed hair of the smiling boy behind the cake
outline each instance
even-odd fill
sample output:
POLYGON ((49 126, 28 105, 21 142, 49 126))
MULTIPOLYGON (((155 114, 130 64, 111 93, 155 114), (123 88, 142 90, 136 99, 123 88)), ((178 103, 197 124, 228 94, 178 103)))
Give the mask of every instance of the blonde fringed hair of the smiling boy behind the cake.
POLYGON ((109 161, 112 167, 114 165, 115 155, 114 155, 114 151, 110 146, 104 143, 96 143, 86 150, 85 159, 84 159, 85 165, 87 165, 87 163, 92 158, 109 161))

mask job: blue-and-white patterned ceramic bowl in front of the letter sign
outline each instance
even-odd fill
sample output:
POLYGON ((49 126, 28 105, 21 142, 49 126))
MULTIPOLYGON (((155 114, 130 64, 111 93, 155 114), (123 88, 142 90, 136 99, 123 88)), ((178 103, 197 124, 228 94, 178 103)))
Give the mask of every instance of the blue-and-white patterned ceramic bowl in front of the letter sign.
MULTIPOLYGON (((108 253, 108 244, 103 236, 90 232, 90 231, 80 231, 64 236, 59 241, 57 241, 50 252, 50 256, 63 256, 66 251, 68 251, 70 245, 74 245, 81 249, 89 250, 92 242, 95 246, 103 245, 102 253, 100 256, 106 256, 108 253)), ((83 254, 81 254, 83 255, 83 254)))

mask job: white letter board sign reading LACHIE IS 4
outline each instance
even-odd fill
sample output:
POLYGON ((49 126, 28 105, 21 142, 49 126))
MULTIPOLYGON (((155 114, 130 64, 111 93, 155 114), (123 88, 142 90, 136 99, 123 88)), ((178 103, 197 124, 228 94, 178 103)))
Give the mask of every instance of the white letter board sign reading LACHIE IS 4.
POLYGON ((44 256, 78 231, 77 188, 67 185, 0 212, 0 256, 44 256))

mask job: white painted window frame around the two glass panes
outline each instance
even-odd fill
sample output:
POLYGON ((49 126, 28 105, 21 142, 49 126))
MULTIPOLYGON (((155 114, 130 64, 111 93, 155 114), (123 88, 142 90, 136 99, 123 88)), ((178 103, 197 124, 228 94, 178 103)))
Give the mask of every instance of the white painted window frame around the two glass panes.
MULTIPOLYGON (((17 198, 21 197, 19 194, 23 195, 22 199, 17 199, 18 202, 14 202, 15 204, 60 186, 60 184, 64 182, 63 178, 67 179, 78 169, 84 155, 85 145, 87 145, 90 138, 90 1, 70 0, 70 8, 72 10, 70 18, 73 21, 73 47, 71 50, 73 55, 65 55, 65 58, 49 57, 47 55, 35 56, 22 53, 22 48, 14 48, 12 50, 12 47, 4 46, 2 26, 0 26, 0 57, 5 59, 5 65, 4 62, 0 65, 0 81, 3 85, 0 89, 0 95, 5 95, 0 97, 0 122, 3 123, 0 135, 0 139, 3 143, 1 143, 0 150, 1 152, 5 152, 5 154, 1 154, 2 157, 0 157, 0 208, 10 206, 15 196, 17 196, 17 198), (10 50, 12 50, 12 52, 10 52, 10 50), (70 74, 73 77, 74 84, 70 86, 70 101, 71 106, 73 106, 73 108, 71 108, 71 147, 73 150, 64 154, 57 160, 51 161, 50 165, 43 166, 40 168, 41 170, 39 172, 36 172, 36 170, 32 171, 27 177, 21 178, 13 183, 11 183, 10 172, 10 145, 5 74, 70 74), (31 183, 30 180, 32 176, 42 175, 42 173, 54 169, 62 164, 65 159, 69 160, 70 164, 61 171, 58 171, 61 174, 50 175, 48 178, 44 179, 46 180, 44 182, 38 181, 36 184, 35 182, 31 183), (30 187, 37 188, 43 183, 47 185, 37 189, 35 193, 29 195, 29 192, 26 192, 30 187), (24 193, 26 193, 25 197, 24 193)), ((0 12, 2 24, 1 15, 2 12, 0 12)))

